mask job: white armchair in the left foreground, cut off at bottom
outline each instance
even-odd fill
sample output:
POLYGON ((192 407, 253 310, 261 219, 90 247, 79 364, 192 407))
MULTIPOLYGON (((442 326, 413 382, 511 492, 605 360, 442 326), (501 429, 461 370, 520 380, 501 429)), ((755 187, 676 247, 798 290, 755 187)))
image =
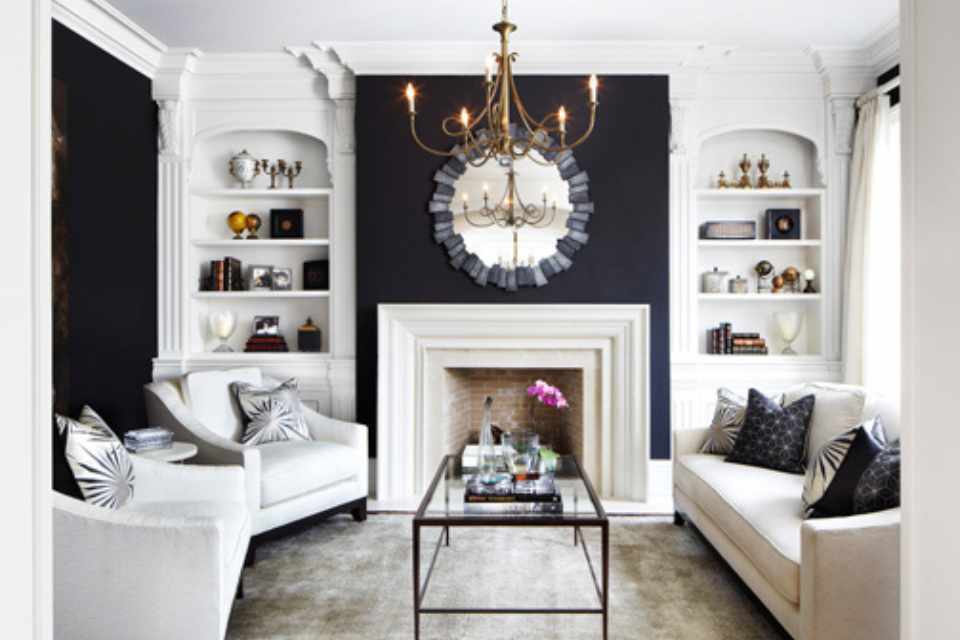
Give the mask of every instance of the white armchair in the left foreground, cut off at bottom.
POLYGON ((116 511, 54 493, 54 637, 223 638, 250 541, 243 469, 133 465, 116 511))

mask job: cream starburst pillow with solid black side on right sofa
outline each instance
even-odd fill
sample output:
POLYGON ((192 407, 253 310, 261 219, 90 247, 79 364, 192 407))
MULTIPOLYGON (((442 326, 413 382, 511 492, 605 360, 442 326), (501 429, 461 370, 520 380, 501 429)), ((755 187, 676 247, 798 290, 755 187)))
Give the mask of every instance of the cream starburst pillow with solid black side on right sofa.
POLYGON ((853 513, 854 492, 864 472, 883 451, 887 436, 879 417, 848 429, 820 448, 803 482, 808 517, 853 513))

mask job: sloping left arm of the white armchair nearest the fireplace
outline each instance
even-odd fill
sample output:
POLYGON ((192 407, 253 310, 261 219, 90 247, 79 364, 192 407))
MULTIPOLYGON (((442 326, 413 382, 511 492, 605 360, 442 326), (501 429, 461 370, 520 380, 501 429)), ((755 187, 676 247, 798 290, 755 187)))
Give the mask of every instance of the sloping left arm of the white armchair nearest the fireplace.
POLYGON ((193 462, 201 465, 243 467, 247 485, 247 505, 251 513, 260 509, 260 452, 207 429, 183 402, 180 390, 170 381, 153 382, 143 388, 147 420, 152 426, 174 433, 176 440, 197 445, 193 462))

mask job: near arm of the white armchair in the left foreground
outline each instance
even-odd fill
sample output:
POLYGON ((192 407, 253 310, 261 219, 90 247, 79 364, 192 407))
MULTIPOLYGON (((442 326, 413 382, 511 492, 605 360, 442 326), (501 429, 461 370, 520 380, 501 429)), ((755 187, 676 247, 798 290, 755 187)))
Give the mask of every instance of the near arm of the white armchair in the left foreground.
POLYGON ((54 637, 218 638, 224 532, 208 518, 111 511, 54 495, 54 637))

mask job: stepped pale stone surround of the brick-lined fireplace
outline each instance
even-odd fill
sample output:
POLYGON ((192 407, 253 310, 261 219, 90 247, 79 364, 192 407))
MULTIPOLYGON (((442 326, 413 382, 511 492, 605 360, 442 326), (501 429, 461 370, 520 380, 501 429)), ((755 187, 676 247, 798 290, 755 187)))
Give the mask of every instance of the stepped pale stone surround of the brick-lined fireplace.
POLYGON ((379 305, 377 500, 411 503, 429 485, 445 371, 495 367, 582 370, 584 466, 602 497, 645 501, 648 328, 648 305, 379 305))

